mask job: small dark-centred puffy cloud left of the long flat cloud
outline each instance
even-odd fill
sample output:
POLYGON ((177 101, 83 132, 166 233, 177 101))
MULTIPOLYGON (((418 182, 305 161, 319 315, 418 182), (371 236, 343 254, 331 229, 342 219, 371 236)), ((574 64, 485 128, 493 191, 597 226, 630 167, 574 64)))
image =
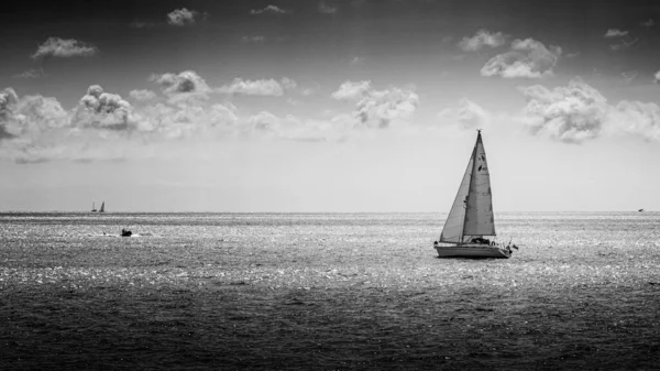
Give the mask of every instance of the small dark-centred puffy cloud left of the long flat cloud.
POLYGON ((150 80, 161 85, 163 92, 172 101, 178 101, 190 98, 207 98, 211 88, 204 78, 194 70, 184 70, 178 74, 166 73, 163 75, 154 74, 150 80))

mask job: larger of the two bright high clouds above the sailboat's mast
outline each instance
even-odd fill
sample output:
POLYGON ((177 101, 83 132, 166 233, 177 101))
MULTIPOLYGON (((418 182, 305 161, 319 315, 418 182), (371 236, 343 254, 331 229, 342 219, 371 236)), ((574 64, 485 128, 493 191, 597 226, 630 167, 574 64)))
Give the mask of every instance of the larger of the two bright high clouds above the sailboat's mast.
POLYGON ((512 51, 491 58, 481 69, 482 76, 504 78, 541 78, 551 76, 561 55, 561 47, 546 47, 534 39, 514 40, 512 51))

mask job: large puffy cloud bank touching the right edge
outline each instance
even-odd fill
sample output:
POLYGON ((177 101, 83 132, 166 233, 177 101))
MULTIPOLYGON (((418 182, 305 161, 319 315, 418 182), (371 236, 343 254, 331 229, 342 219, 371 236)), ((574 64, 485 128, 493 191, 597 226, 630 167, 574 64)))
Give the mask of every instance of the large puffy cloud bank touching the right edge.
POLYGON ((540 85, 519 89, 527 98, 524 114, 535 134, 566 143, 581 143, 603 132, 660 140, 660 108, 653 102, 623 100, 612 106, 581 78, 552 90, 540 85))

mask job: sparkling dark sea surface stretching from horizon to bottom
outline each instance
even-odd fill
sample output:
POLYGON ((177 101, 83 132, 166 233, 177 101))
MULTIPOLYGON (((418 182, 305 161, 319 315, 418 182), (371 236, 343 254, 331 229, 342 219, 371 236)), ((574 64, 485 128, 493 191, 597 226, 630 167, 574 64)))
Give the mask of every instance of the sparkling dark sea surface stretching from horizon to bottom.
POLYGON ((0 214, 0 369, 660 365, 660 214, 498 214, 508 260, 444 217, 0 214))

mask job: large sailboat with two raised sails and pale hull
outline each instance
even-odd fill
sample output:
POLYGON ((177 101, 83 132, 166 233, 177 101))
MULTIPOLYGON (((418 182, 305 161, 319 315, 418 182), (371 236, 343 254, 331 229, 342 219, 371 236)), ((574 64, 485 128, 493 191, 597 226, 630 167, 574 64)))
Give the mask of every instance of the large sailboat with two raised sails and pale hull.
POLYGON ((491 174, 481 130, 477 130, 459 193, 433 248, 440 258, 510 258, 512 247, 518 248, 510 241, 506 247, 495 242, 495 236, 491 174))

